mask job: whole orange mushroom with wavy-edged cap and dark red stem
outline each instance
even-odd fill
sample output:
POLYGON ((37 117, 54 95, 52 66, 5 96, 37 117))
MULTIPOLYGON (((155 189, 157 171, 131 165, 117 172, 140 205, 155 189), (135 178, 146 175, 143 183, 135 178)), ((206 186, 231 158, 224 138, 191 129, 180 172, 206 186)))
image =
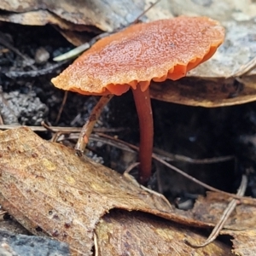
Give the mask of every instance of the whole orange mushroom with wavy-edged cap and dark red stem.
POLYGON ((154 134, 150 81, 184 77, 223 41, 224 28, 207 17, 140 23, 96 42, 52 83, 62 90, 96 96, 119 96, 131 87, 140 126, 139 180, 147 183, 154 134))

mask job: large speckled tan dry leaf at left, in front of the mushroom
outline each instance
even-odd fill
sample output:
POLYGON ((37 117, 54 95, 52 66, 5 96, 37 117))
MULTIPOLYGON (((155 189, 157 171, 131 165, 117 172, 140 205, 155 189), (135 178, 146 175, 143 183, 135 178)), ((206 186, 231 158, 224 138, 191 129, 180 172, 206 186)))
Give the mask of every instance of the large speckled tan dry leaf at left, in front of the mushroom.
POLYGON ((158 195, 107 167, 79 159, 73 149, 45 142, 26 127, 0 133, 0 171, 3 207, 33 234, 66 241, 73 252, 84 255, 90 254, 96 224, 112 208, 211 226, 176 215, 158 195))

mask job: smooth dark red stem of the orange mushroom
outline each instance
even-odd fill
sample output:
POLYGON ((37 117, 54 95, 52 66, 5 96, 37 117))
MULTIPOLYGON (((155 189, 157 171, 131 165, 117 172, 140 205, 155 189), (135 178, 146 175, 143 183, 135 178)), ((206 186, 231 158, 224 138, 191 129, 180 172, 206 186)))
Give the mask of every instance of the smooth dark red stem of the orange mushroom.
POLYGON ((140 84, 132 90, 140 125, 139 182, 145 184, 151 176, 153 152, 153 116, 149 89, 142 91, 140 84))

